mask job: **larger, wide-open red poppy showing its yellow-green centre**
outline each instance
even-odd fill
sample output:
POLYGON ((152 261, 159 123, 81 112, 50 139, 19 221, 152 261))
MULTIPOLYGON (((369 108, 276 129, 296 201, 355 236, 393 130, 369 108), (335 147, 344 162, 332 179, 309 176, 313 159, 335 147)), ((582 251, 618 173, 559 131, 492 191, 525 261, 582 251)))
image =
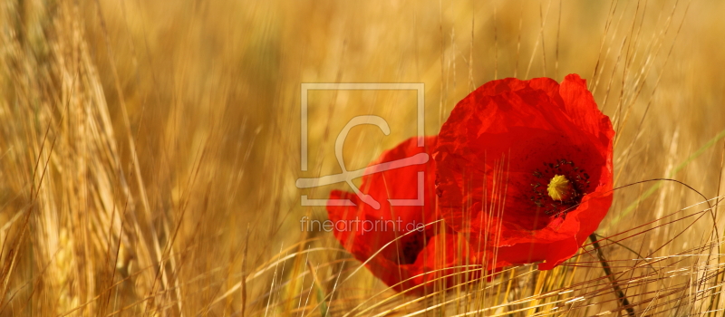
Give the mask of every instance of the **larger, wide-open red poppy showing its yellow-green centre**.
POLYGON ((576 74, 488 82, 443 124, 434 154, 440 213, 495 266, 575 255, 612 205, 612 139, 576 74))

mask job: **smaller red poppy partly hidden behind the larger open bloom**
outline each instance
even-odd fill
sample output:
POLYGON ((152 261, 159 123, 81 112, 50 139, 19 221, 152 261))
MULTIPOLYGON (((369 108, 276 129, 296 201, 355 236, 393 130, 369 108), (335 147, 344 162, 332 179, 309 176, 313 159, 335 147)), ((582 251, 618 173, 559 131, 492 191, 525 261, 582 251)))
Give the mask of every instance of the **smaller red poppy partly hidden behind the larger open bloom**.
MULTIPOLYGON (((379 202, 379 209, 362 202, 353 193, 334 190, 330 194, 331 199, 350 199, 356 205, 331 206, 328 203, 327 214, 333 221, 334 236, 356 259, 365 263, 373 275, 397 291, 421 284, 429 287, 432 283, 428 282, 454 274, 457 265, 465 264, 460 260, 465 257, 457 256, 459 250, 469 249, 465 239, 459 241, 458 235, 442 222, 425 226, 440 219, 436 212, 433 159, 420 165, 387 170, 379 165, 420 153, 430 155, 436 139, 427 137, 425 148, 418 147, 415 138, 405 140, 371 163, 367 175, 362 177, 360 190, 379 202), (422 179, 419 173, 422 173, 422 179), (419 188, 419 181, 422 181, 422 188, 419 188), (401 204, 391 203, 388 199, 411 201, 401 204), (420 200, 412 201, 416 199, 420 200), (459 248, 461 245, 463 247, 459 248)), ((431 290, 429 287, 427 292, 431 290)), ((426 291, 418 287, 412 292, 426 291)))

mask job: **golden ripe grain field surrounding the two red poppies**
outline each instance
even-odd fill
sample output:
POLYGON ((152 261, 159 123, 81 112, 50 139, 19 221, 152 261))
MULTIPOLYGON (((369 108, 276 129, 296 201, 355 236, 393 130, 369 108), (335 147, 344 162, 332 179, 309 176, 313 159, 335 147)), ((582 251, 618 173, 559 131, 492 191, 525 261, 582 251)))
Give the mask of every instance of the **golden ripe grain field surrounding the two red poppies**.
MULTIPOLYGON (((0 315, 725 316, 725 3, 0 3, 0 315), (324 199, 506 77, 578 73, 616 131, 596 244, 417 297, 333 235, 324 199)), ((359 181, 359 179, 357 180, 359 181)))

